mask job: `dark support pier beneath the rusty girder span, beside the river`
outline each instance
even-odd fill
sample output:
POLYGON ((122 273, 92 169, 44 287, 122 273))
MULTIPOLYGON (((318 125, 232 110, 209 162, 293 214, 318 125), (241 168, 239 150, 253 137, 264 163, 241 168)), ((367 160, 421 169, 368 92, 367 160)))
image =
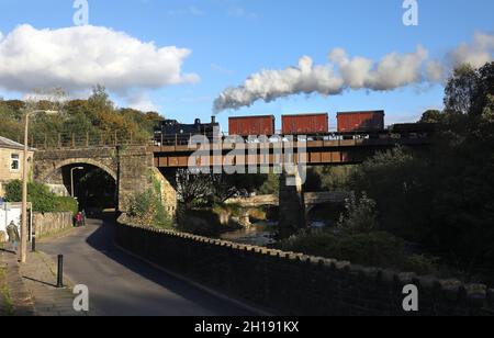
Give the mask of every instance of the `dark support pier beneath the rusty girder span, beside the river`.
POLYGON ((307 226, 300 173, 280 176, 280 237, 288 238, 307 226))

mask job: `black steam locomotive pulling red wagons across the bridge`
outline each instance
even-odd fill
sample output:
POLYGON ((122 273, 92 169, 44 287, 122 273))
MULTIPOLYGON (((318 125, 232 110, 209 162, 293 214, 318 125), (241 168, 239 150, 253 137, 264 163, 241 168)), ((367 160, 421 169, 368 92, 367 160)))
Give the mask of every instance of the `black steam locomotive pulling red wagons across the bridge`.
POLYGON ((193 124, 179 123, 177 120, 165 120, 155 127, 155 143, 158 145, 188 145, 194 135, 203 135, 212 139, 220 132, 220 123, 211 117, 211 123, 201 123, 195 119, 193 124))

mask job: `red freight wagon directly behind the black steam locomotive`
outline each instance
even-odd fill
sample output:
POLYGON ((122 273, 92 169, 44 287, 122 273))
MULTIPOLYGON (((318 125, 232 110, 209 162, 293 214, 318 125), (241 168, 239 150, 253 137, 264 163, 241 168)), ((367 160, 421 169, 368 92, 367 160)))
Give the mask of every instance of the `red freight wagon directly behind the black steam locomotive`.
POLYGON ((247 136, 274 135, 274 116, 243 116, 229 117, 228 134, 247 136))

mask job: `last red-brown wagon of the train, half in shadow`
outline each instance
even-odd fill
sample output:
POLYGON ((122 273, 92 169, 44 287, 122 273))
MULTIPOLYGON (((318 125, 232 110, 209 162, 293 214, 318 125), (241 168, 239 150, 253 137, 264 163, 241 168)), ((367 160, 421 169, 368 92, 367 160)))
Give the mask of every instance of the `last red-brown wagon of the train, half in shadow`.
POLYGON ((338 133, 384 131, 384 111, 338 113, 338 133))

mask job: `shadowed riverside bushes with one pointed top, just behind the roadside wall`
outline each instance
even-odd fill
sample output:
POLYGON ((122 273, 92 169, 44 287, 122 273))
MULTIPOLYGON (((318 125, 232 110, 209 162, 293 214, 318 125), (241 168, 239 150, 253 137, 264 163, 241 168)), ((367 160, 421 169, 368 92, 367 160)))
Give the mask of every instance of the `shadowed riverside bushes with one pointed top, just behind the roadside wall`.
POLYGON ((436 259, 407 252, 405 240, 381 230, 375 202, 362 194, 349 199, 336 228, 306 229, 277 244, 285 251, 349 260, 418 274, 437 272, 436 259))

